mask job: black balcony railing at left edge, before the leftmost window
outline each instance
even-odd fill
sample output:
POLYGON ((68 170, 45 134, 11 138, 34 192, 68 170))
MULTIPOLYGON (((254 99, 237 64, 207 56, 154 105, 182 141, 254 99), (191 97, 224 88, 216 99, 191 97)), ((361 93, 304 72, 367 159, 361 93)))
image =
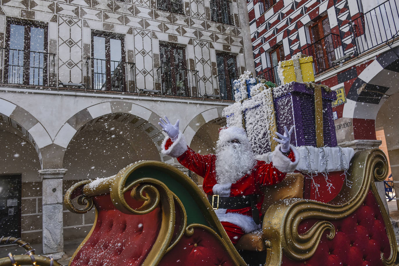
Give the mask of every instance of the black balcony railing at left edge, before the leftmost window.
POLYGON ((53 53, 1 49, 1 83, 57 86, 56 59, 53 53))

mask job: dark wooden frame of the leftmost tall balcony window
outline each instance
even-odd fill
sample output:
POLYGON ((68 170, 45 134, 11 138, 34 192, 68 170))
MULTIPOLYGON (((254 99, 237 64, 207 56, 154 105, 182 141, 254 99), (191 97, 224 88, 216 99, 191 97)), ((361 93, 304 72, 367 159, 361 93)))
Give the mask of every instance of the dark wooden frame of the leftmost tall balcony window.
MULTIPOLYGON (((38 22, 33 20, 24 20, 20 18, 9 18, 6 22, 6 51, 4 56, 4 83, 8 83, 9 76, 9 52, 10 52, 10 31, 11 25, 24 26, 24 64, 22 74, 22 85, 30 85, 30 28, 41 28, 44 30, 43 36, 43 85, 47 86, 47 57, 48 57, 48 24, 45 22, 38 22)), ((14 83, 12 83, 14 84, 14 83)), ((21 84, 21 83, 15 83, 21 84)))

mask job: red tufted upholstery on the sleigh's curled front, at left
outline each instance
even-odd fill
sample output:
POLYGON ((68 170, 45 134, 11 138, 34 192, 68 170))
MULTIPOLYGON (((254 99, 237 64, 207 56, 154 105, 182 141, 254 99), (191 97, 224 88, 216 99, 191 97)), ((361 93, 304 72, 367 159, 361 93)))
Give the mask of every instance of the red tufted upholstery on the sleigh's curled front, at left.
MULTIPOLYGON (((125 198, 131 206, 142 204, 125 198)), ((146 215, 128 215, 115 209, 109 194, 93 197, 93 201, 98 211, 95 229, 70 265, 141 265, 158 235, 160 208, 146 215)))

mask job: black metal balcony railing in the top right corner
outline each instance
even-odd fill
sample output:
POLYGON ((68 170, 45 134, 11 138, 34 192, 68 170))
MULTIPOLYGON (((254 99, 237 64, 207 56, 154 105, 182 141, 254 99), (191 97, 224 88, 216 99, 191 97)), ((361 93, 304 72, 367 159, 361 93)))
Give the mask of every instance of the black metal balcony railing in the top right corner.
POLYGON ((395 37, 399 33, 399 0, 387 0, 352 21, 352 41, 358 55, 395 37))

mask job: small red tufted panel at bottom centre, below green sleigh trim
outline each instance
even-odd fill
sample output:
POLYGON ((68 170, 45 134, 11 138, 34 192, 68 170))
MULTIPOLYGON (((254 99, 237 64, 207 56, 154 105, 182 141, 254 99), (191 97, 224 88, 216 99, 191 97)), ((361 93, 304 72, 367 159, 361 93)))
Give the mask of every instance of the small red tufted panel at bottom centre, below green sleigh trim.
POLYGON ((162 258, 159 266, 229 266, 236 265, 215 236, 195 228, 190 237, 182 239, 162 258))

